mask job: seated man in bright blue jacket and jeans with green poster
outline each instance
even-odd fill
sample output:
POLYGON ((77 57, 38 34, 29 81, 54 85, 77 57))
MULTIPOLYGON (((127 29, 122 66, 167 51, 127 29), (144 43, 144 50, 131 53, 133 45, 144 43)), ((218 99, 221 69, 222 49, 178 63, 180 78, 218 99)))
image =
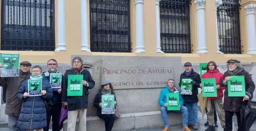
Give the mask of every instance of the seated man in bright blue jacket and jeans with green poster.
POLYGON ((160 111, 164 123, 163 131, 170 130, 167 113, 182 113, 183 130, 191 131, 188 127, 189 111, 187 107, 183 106, 184 100, 180 94, 180 91, 175 87, 173 79, 169 79, 167 84, 168 87, 161 90, 158 100, 159 104, 161 105, 160 111))

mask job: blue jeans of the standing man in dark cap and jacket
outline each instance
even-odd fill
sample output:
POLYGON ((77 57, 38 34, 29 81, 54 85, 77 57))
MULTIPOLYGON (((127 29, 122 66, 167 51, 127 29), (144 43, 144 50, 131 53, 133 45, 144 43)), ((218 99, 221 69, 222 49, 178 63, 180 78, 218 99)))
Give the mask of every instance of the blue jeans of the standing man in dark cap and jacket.
POLYGON ((188 111, 189 111, 189 123, 198 124, 197 123, 197 117, 198 117, 197 102, 185 102, 185 106, 188 108, 188 111))

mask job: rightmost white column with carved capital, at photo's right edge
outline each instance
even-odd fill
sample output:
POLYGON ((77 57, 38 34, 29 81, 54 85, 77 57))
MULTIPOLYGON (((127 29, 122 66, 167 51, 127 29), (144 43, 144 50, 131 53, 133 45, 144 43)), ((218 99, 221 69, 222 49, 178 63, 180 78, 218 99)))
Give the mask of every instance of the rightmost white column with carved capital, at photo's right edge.
POLYGON ((247 19, 247 40, 248 52, 247 54, 256 54, 256 32, 255 32, 255 8, 256 4, 249 4, 245 7, 247 19))

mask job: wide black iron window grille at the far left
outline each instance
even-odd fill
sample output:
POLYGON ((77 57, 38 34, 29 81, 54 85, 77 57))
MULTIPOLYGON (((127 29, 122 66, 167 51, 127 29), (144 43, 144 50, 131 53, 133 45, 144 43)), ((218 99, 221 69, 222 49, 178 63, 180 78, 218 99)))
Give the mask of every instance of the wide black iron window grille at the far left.
POLYGON ((1 50, 55 49, 55 0, 2 0, 1 50))

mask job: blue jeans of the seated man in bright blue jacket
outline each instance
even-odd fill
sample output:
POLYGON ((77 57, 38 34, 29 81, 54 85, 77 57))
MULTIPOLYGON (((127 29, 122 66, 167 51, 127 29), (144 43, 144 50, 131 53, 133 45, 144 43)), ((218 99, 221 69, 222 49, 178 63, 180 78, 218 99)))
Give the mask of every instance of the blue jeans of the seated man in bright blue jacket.
MULTIPOLYGON (((189 118, 189 112, 187 107, 182 106, 180 108, 180 111, 168 111, 167 107, 161 106, 161 116, 165 127, 170 126, 168 122, 167 113, 182 113, 182 119, 183 119, 183 126, 188 126, 188 118, 189 118)), ((175 118, 174 118, 175 119, 175 118)))

